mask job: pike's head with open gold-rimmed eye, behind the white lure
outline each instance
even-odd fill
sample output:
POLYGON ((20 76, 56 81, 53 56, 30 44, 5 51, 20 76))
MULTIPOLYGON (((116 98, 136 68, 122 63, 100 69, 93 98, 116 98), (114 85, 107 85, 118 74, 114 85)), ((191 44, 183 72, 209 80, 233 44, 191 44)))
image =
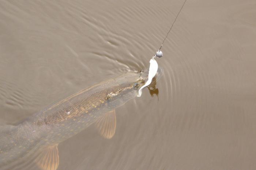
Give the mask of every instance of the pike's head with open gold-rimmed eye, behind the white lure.
MULTIPOLYGON (((137 73, 128 72, 114 79, 116 86, 112 86, 106 98, 108 107, 114 108, 123 105, 130 99, 138 95, 140 87, 148 80, 148 71, 140 71, 137 73)), ((155 80, 159 80, 163 75, 163 68, 158 67, 155 80)))

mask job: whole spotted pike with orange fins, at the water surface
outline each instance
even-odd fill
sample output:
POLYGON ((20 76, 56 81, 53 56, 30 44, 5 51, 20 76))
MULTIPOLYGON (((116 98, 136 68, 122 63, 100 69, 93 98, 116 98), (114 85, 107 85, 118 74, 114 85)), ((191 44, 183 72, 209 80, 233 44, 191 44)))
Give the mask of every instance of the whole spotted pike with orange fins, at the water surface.
MULTIPOLYGON (((162 74, 159 67, 153 82, 162 74)), ((135 98, 147 76, 148 70, 128 72, 79 91, 16 126, 5 127, 0 131, 0 169, 21 169, 30 158, 42 170, 56 170, 58 144, 93 123, 102 137, 112 138, 115 108, 135 98)))

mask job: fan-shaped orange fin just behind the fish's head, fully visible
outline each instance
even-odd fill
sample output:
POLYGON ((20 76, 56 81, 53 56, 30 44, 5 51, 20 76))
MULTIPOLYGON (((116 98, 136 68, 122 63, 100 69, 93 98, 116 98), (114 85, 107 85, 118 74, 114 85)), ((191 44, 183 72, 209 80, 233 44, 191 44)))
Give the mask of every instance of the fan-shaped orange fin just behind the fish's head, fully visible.
POLYGON ((116 132, 116 111, 107 112, 97 120, 95 125, 102 137, 111 139, 116 132))

